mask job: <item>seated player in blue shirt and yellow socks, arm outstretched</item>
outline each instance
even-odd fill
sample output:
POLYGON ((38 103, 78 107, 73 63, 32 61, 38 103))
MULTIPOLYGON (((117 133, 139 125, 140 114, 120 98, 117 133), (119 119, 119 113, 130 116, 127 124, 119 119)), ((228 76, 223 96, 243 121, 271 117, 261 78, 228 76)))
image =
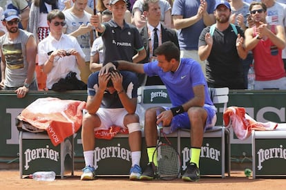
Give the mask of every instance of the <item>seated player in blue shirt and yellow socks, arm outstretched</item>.
POLYGON ((164 42, 155 50, 158 61, 148 64, 133 64, 128 61, 113 61, 100 70, 104 75, 113 67, 119 70, 131 70, 148 76, 158 75, 165 84, 171 99, 171 108, 153 107, 146 110, 144 133, 149 163, 140 176, 140 180, 153 180, 157 160, 153 153, 157 144, 157 124, 171 126, 171 131, 190 129, 191 160, 182 175, 184 181, 200 179, 200 148, 204 131, 216 124, 216 107, 211 102, 207 82, 197 61, 180 59, 180 50, 171 41, 164 42), (156 111, 160 109, 160 115, 156 111), (155 167, 154 167, 155 166, 155 167))

